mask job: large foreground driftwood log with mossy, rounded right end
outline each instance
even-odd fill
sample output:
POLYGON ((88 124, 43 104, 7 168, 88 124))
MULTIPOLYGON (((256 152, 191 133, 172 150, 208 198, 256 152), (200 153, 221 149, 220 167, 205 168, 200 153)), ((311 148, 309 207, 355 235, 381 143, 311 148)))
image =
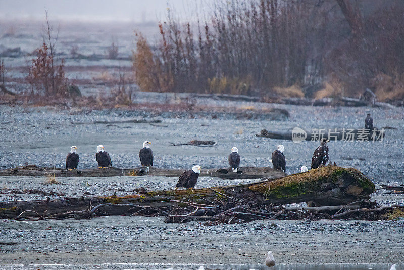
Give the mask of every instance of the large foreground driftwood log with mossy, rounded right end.
MULTIPOLYGON (((160 209, 165 215, 175 207, 193 206, 220 207, 234 204, 285 205, 314 201, 319 205, 347 205, 359 200, 370 199, 375 191, 374 184, 360 171, 353 168, 323 166, 308 172, 293 174, 277 179, 265 179, 252 184, 233 185, 194 190, 151 191, 129 196, 81 197, 59 200, 38 200, 21 202, 0 202, 0 218, 16 218, 23 211, 25 215, 52 216, 55 214, 87 211, 99 206, 106 215, 132 214, 145 207, 160 209), (167 207, 169 208, 167 210, 167 207), (164 210, 162 210, 164 209, 164 210), (171 210, 170 210, 171 209, 171 210), (35 212, 32 212, 35 211, 35 212)), ((228 211, 228 209, 226 209, 228 211)), ((195 210, 197 211, 197 210, 195 210)), ((92 211, 94 212, 94 211, 92 211)))

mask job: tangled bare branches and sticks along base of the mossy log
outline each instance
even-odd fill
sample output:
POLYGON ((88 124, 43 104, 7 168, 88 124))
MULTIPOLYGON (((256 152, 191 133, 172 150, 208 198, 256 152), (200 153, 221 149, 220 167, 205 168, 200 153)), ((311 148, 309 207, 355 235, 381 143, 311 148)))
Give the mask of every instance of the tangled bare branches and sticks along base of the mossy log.
MULTIPOLYGON (((221 193, 218 193, 221 194, 221 193)), ((13 219, 5 221, 30 220, 39 221, 45 219, 90 219, 97 216, 107 216, 119 211, 122 215, 140 216, 164 216, 167 223, 185 223, 189 221, 204 221, 205 225, 220 223, 244 223, 262 219, 281 220, 330 220, 330 219, 359 219, 380 220, 383 215, 396 208, 404 208, 404 205, 379 206, 375 201, 356 201, 348 205, 333 206, 282 206, 282 205, 250 205, 245 201, 216 199, 209 204, 195 203, 187 198, 181 200, 181 205, 171 206, 139 206, 135 204, 103 203, 97 206, 89 206, 88 210, 68 211, 49 215, 46 212, 40 214, 36 211, 25 210, 13 219)), ((164 202, 160 201, 163 205, 164 202)))

